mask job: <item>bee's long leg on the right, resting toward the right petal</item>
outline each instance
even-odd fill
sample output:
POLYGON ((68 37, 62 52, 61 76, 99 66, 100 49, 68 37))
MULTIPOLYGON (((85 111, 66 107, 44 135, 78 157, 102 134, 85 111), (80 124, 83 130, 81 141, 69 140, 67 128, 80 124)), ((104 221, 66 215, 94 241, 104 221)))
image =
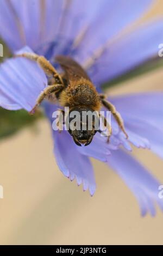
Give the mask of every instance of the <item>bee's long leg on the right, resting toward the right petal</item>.
POLYGON ((124 135, 126 135, 126 138, 128 138, 128 134, 124 129, 123 119, 122 119, 120 113, 118 113, 116 111, 115 106, 112 105, 111 102, 109 102, 108 100, 105 99, 105 95, 99 95, 99 97, 101 99, 103 106, 106 107, 114 115, 114 118, 117 121, 118 126, 123 131, 124 135))

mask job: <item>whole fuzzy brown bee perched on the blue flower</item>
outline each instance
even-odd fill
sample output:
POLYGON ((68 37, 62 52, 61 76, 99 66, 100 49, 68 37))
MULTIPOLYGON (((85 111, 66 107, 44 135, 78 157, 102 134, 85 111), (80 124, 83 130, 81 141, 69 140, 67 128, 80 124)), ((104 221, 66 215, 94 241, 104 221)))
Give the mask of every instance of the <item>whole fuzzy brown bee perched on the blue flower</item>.
MULTIPOLYGON (((53 83, 49 84, 39 95, 36 105, 30 113, 35 112, 35 109, 40 105, 43 99, 47 97, 53 99, 51 96, 54 94, 61 107, 69 107, 69 114, 71 114, 72 111, 78 111, 81 118, 83 112, 86 114, 89 111, 99 113, 101 107, 104 106, 112 113, 118 126, 126 135, 126 138, 128 138, 120 113, 116 111, 115 106, 112 105, 111 102, 106 100, 105 95, 97 92, 95 86, 90 80, 90 77, 86 74, 86 71, 74 59, 67 56, 57 56, 55 60, 64 71, 62 74, 59 74, 54 66, 43 56, 39 56, 35 53, 22 53, 16 55, 16 57, 24 57, 34 60, 39 64, 40 68, 47 76, 53 78, 53 83)), ((63 110, 60 111, 64 114, 63 110)), ((104 122, 106 125, 105 118, 104 122)), ((86 127, 88 127, 87 120, 86 127)), ((81 146, 81 144, 84 144, 85 146, 89 145, 93 136, 97 132, 97 130, 95 130, 95 126, 92 126, 92 130, 87 128, 84 130, 82 130, 82 128, 80 130, 72 130, 71 127, 69 128, 68 132, 78 146, 81 146)), ((98 130, 98 132, 102 131, 98 130)), ((110 135, 111 126, 109 125, 108 142, 110 135)))

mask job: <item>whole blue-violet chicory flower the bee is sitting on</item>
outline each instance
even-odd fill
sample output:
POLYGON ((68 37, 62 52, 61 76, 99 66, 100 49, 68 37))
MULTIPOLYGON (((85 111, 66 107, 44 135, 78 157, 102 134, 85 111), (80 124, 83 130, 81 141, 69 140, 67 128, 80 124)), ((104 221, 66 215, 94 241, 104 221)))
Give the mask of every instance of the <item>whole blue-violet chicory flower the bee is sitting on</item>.
MULTIPOLYGON (((151 5, 151 0, 1 0, 0 35, 12 53, 35 52, 53 65, 57 54, 72 56, 89 74, 98 90, 102 83, 133 69, 158 53, 163 41, 162 20, 130 31, 130 26, 151 5)), ((56 65, 56 68, 58 66, 56 65)), ((0 106, 31 111, 47 77, 36 63, 10 58, 0 67, 0 106)), ((163 157, 163 93, 109 97, 121 113, 128 140, 111 121, 110 143, 98 134, 87 147, 74 144, 67 131, 52 131, 54 154, 61 172, 76 178, 83 190, 95 193, 96 182, 89 157, 106 162, 134 193, 141 214, 155 215, 160 185, 133 156, 131 146, 151 149, 163 157), (150 103, 149 103, 150 102, 150 103), (67 147, 66 147, 67 145, 67 147), (73 160, 72 160, 73 155, 73 160)), ((43 102, 47 118, 57 105, 43 102)))

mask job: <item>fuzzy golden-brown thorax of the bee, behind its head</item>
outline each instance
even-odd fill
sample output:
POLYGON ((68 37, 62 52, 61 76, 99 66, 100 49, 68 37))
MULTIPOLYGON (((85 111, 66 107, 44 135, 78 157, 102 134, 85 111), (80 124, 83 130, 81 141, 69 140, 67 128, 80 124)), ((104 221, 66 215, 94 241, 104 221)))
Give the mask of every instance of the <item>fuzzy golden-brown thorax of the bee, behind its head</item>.
POLYGON ((89 106, 93 110, 99 111, 101 103, 99 101, 98 93, 89 80, 81 78, 81 80, 74 82, 71 86, 67 86, 62 90, 59 101, 61 106, 73 108, 75 106, 89 106))

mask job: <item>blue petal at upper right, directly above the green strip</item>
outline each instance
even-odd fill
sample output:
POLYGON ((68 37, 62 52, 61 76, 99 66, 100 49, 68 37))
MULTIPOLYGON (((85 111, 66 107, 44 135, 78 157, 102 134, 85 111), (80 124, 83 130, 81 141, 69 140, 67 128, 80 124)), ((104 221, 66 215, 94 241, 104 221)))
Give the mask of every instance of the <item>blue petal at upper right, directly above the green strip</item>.
POLYGON ((107 82, 158 56, 158 45, 163 41, 162 31, 162 20, 155 21, 108 43, 88 70, 92 81, 97 85, 107 82))

